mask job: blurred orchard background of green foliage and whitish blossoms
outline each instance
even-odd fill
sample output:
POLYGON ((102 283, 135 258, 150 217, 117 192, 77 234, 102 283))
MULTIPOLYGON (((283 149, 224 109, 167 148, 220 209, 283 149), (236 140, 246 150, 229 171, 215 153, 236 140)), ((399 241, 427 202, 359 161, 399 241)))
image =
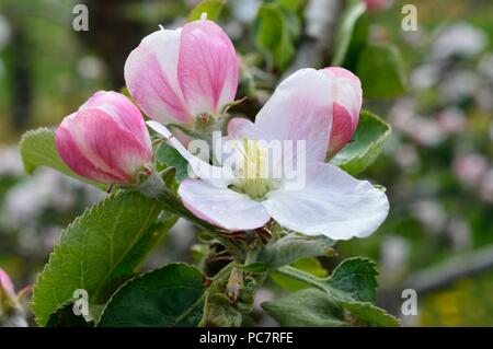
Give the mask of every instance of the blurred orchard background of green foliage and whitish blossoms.
MULTIPOLYGON (((182 25, 197 2, 0 3, 0 267, 18 289, 34 282, 61 229, 104 196, 51 170, 24 175, 20 137, 56 126, 98 90, 119 91, 128 53, 159 24, 182 25), (88 32, 72 28, 78 3, 89 9, 88 32)), ((241 57, 239 95, 249 97, 233 113, 253 117, 290 71, 333 62, 337 27, 354 2, 226 1, 218 22, 241 57)), ((405 325, 492 326, 493 2, 389 3, 367 13, 355 33, 365 26, 376 47, 392 45, 399 83, 375 63, 386 68, 390 56, 363 56, 355 39, 341 63, 360 75, 371 97, 365 108, 393 127, 383 154, 359 175, 387 187, 391 212, 374 235, 339 243, 340 256, 322 263, 330 269, 348 256, 375 259, 379 303, 405 325), (401 27, 406 3, 417 9, 415 32, 401 27), (406 288, 417 291, 416 316, 400 312, 406 288)), ((193 228, 180 222, 147 267, 192 260, 193 240, 193 228)))

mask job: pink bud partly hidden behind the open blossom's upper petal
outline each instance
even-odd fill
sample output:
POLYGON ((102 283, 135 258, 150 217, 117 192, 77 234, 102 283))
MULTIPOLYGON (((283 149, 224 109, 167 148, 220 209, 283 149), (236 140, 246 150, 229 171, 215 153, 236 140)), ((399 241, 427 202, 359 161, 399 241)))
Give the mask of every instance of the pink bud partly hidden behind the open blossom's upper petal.
POLYGON ((332 156, 351 141, 359 120, 363 91, 359 79, 351 71, 330 67, 322 70, 333 80, 333 119, 329 155, 332 156))

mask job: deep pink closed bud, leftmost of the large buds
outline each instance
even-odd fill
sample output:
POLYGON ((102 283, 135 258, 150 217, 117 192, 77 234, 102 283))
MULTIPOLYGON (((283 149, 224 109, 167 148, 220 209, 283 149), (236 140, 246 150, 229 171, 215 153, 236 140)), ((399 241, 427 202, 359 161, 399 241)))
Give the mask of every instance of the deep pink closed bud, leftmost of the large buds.
POLYGON ((124 95, 100 91, 57 129, 56 146, 77 174, 107 184, 133 183, 152 161, 139 109, 124 95))

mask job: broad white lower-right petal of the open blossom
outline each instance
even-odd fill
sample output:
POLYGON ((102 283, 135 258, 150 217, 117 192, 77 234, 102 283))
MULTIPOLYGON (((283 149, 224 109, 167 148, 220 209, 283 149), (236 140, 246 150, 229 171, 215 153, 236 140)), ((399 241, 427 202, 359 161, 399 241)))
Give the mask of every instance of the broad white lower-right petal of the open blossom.
POLYGON ((283 187, 270 193, 263 205, 280 225, 333 240, 368 236, 389 212, 381 190, 326 163, 307 165, 303 189, 283 187))

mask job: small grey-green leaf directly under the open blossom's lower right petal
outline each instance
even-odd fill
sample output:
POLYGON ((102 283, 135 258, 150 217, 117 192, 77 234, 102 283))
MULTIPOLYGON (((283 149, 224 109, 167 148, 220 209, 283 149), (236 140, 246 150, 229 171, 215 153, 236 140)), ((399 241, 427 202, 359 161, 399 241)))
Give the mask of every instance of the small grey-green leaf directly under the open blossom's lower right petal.
POLYGON ((266 245, 260 253, 259 260, 274 269, 301 258, 334 255, 334 244, 333 240, 325 236, 310 237, 290 233, 266 245))

